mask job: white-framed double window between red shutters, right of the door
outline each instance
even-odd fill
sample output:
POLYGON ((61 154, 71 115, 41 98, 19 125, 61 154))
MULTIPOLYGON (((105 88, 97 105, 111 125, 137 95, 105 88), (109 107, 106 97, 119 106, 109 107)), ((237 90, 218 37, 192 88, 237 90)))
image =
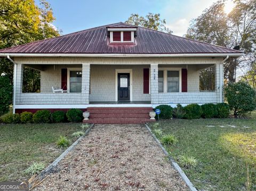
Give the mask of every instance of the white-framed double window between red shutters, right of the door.
POLYGON ((158 69, 158 93, 181 92, 180 69, 158 69))

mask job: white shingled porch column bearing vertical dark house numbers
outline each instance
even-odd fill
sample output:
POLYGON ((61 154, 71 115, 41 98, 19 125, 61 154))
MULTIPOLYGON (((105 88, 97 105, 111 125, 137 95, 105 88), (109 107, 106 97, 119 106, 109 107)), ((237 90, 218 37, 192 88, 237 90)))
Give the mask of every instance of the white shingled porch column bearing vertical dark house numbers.
POLYGON ((151 104, 158 103, 158 64, 150 64, 151 104))

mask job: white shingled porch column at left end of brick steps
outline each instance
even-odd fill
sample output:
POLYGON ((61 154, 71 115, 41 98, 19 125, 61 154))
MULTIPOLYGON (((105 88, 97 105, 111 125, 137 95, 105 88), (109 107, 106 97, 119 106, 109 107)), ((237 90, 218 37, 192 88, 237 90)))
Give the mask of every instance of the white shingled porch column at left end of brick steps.
POLYGON ((89 104, 90 64, 82 64, 82 97, 84 104, 89 104))

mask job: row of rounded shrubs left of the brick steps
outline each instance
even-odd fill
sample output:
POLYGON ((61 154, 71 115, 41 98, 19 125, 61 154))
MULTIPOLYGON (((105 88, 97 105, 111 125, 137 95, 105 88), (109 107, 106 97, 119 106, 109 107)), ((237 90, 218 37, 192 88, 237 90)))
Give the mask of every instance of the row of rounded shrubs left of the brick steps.
POLYGON ((59 122, 82 122, 83 112, 79 109, 70 109, 67 113, 63 111, 54 111, 51 113, 49 110, 39 110, 36 113, 22 112, 7 113, 1 117, 4 123, 59 123, 59 122))

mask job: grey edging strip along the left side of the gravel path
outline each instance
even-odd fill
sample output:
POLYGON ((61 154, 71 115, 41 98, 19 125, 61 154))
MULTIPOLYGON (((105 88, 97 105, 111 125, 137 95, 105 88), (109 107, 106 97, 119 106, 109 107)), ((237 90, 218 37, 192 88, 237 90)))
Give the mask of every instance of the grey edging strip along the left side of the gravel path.
POLYGON ((33 186, 33 182, 37 181, 40 182, 45 178, 45 175, 50 173, 50 171, 57 166, 57 164, 70 152, 74 149, 74 147, 87 135, 89 134, 89 131, 94 126, 94 123, 91 124, 91 126, 85 131, 85 134, 81 137, 79 137, 72 145, 70 145, 66 151, 61 153, 61 155, 55 159, 46 169, 44 169, 42 172, 40 172, 32 182, 29 183, 29 189, 33 186))

